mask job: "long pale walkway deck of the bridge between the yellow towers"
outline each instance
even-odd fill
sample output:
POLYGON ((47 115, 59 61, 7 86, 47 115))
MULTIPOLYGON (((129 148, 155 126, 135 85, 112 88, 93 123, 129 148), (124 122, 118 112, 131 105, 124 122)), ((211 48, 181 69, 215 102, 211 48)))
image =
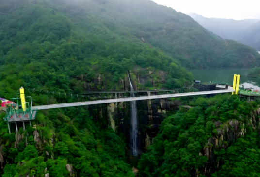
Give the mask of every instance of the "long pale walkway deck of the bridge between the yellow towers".
POLYGON ((232 87, 228 87, 228 89, 226 89, 226 90, 175 93, 175 94, 163 94, 163 95, 152 95, 152 96, 141 96, 141 97, 130 97, 130 98, 117 98, 117 99, 108 99, 108 100, 96 100, 96 101, 77 102, 77 103, 63 103, 63 104, 51 104, 51 105, 44 105, 44 106, 33 106, 33 109, 43 110, 43 109, 74 107, 74 106, 83 106, 83 105, 91 105, 91 104, 129 102, 129 101, 137 101, 137 100, 151 100, 151 99, 172 98, 172 97, 182 97, 182 96, 230 93, 230 92, 234 92, 234 91, 235 90, 233 90, 232 87))

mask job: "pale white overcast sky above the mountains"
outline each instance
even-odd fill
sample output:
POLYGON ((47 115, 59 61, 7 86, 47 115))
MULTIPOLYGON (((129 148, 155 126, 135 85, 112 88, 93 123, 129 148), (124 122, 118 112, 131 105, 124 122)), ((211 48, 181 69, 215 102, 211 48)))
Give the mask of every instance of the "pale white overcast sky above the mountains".
POLYGON ((176 11, 211 18, 260 19, 260 0, 153 0, 176 11))

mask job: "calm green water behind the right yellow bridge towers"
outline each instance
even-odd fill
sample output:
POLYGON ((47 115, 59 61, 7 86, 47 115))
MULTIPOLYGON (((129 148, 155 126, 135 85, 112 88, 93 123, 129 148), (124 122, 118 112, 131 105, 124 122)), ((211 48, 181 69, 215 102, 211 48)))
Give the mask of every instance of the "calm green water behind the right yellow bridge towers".
POLYGON ((205 70, 190 70, 195 80, 201 82, 224 82, 233 84, 231 75, 240 74, 240 87, 254 88, 260 90, 260 80, 258 78, 247 77, 248 68, 214 68, 205 70), (227 78, 229 76, 229 78, 227 78))

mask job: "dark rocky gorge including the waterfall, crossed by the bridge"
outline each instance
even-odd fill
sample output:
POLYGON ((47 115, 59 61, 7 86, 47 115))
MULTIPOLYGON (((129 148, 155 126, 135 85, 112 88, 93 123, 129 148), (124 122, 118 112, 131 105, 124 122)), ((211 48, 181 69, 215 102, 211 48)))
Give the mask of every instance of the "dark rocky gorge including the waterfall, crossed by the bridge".
MULTIPOLYGON (((130 91, 132 80, 132 88, 134 90, 142 90, 141 85, 147 81, 151 83, 151 85, 155 85, 156 83, 164 83, 166 78, 166 73, 163 71, 150 71, 147 70, 146 74, 138 74, 135 70, 131 70, 129 72, 129 77, 126 77, 124 80, 120 80, 117 84, 116 88, 120 88, 120 90, 116 91, 130 91), (135 75, 136 74, 136 75, 135 75), (157 75, 157 78, 152 79, 157 75), (133 79, 137 78, 137 79, 133 79), (141 80, 141 83, 138 82, 141 80), (154 81, 156 80, 156 81, 154 81)), ((98 76, 98 75, 97 75, 98 76)), ((94 80, 95 87, 98 86, 98 83, 102 83, 103 78, 102 75, 99 75, 97 79, 94 80)), ((91 85, 86 83, 86 85, 91 85)), ((86 92, 90 91, 92 88, 86 87, 86 92)), ((114 90, 111 90, 114 91, 114 90)), ((115 91, 115 92, 116 92, 115 91)), ((133 91, 133 90, 131 90, 133 91)), ((144 92, 143 95, 151 95, 156 94, 157 92, 144 92)), ((131 93, 132 95, 133 93, 131 93)), ((110 95, 108 93, 108 95, 110 95)), ((123 97, 124 93, 117 93, 118 98, 123 97)), ((113 95, 114 96, 114 95, 113 95)), ((152 144, 152 138, 156 136, 159 131, 160 124, 163 119, 166 118, 167 113, 169 111, 177 110, 178 106, 181 104, 181 100, 169 100, 169 99, 155 99, 155 100, 143 100, 136 101, 135 108, 133 108, 131 102, 120 102, 120 103, 110 103, 110 104, 102 104, 102 105, 91 105, 89 106, 90 115, 94 118, 97 118, 97 121, 107 122, 107 125, 112 127, 116 132, 123 132, 126 134, 126 143, 129 144, 129 149, 132 151, 133 145, 137 145, 136 155, 142 155, 143 151, 146 151, 147 148, 152 144), (94 108, 98 108, 97 112, 92 112, 91 110, 94 108), (136 132, 132 131, 133 126, 133 114, 135 115, 136 120, 136 132), (134 134, 136 133, 136 135, 134 134), (132 137, 136 137, 136 142, 133 143, 132 137)), ((132 155, 132 152, 130 153, 132 155)))

